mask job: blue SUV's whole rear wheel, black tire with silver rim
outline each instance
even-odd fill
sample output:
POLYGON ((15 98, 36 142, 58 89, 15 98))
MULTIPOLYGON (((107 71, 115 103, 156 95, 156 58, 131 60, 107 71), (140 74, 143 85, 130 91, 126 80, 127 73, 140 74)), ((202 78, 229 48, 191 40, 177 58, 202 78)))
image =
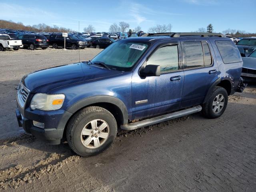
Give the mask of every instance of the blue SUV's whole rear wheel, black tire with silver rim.
POLYGON ((202 114, 206 118, 218 118, 226 110, 227 104, 228 93, 226 89, 216 86, 210 93, 208 99, 206 100, 206 103, 202 105, 202 114))

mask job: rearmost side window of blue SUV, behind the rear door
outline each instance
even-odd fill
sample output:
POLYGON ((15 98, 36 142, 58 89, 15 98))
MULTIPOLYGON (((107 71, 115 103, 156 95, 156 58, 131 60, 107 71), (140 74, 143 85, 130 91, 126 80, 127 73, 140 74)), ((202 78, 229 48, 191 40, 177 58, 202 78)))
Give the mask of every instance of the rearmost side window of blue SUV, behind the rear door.
POLYGON ((225 64, 242 61, 240 52, 232 41, 215 41, 215 43, 225 64))

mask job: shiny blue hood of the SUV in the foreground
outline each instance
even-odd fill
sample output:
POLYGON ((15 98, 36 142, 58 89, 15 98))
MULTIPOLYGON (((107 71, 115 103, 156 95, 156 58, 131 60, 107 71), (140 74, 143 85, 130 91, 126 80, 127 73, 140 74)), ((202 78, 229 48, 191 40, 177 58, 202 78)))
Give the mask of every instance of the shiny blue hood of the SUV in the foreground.
POLYGON ((84 62, 48 68, 30 73, 22 78, 22 84, 32 93, 48 91, 72 83, 104 78, 120 74, 116 70, 108 70, 84 62))

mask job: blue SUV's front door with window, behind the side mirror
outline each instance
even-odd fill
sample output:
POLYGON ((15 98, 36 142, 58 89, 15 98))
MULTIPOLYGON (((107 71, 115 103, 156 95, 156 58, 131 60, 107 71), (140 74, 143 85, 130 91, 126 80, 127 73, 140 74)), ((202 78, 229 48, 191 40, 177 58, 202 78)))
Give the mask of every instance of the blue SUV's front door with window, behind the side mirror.
POLYGON ((132 76, 132 117, 145 118, 180 108, 184 72, 180 42, 159 44, 144 64, 160 65, 160 76, 142 78, 138 72, 132 76))

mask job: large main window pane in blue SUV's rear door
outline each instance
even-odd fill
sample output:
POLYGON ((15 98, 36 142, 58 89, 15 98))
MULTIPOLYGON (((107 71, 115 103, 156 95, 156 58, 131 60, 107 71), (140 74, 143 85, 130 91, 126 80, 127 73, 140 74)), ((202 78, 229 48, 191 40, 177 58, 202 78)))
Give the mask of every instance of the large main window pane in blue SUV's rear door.
POLYGON ((186 53, 186 65, 184 68, 194 68, 204 66, 204 52, 201 41, 183 42, 186 53))

